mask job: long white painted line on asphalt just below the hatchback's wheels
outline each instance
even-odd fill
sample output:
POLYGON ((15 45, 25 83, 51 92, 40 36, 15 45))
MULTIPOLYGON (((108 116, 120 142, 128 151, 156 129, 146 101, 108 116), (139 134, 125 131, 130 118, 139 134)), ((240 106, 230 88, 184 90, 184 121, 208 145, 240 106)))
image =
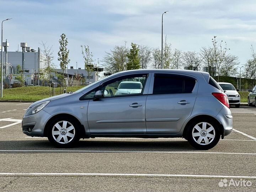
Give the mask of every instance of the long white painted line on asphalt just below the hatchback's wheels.
POLYGON ((197 151, 106 151, 106 150, 0 150, 0 152, 79 152, 79 153, 190 153, 190 154, 225 154, 256 155, 256 153, 197 152, 197 151))

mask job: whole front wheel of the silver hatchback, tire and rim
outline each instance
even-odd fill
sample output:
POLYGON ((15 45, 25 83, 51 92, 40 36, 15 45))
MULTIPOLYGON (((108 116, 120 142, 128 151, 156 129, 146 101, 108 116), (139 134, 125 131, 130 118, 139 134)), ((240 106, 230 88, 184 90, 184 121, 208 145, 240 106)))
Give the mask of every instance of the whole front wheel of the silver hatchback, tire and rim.
POLYGON ((50 143, 59 148, 72 147, 80 139, 78 123, 71 118, 55 119, 50 123, 47 133, 50 143))

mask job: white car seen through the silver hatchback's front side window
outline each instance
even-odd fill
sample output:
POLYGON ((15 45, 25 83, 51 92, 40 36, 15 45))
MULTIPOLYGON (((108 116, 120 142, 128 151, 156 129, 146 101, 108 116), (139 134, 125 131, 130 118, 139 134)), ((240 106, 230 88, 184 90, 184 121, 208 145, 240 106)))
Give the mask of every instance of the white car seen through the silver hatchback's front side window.
POLYGON ((116 95, 140 94, 142 83, 138 81, 122 81, 116 89, 116 95))

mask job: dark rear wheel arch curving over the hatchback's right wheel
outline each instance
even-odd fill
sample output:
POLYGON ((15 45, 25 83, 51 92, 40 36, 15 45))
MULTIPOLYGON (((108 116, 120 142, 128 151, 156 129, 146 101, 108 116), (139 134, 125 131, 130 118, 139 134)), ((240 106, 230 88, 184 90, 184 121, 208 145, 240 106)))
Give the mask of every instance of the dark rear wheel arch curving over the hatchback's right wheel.
POLYGON ((201 120, 201 119, 210 119, 212 121, 214 121, 217 125, 218 125, 218 128, 219 128, 219 132, 220 132, 220 135, 222 136, 222 139, 224 138, 224 128, 223 128, 223 125, 214 117, 212 116, 209 116, 209 115, 198 115, 196 117, 193 117, 192 119, 190 119, 185 128, 183 129, 183 133, 182 133, 182 137, 183 138, 186 138, 187 137, 187 130, 188 130, 188 127, 190 126, 190 124, 193 122, 193 121, 197 121, 197 120, 201 120))

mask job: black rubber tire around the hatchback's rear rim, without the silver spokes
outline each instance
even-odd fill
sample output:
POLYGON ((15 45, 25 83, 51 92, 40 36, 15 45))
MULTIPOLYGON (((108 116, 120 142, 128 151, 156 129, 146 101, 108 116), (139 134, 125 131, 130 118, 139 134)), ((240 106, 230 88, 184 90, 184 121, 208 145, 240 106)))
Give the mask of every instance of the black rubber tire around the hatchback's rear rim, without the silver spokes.
MULTIPOLYGON (((200 134, 200 132, 198 132, 198 134, 200 134)), ((206 135, 207 135, 206 134, 206 135)), ((187 129, 187 140, 188 142, 196 149, 200 149, 200 150, 208 150, 208 149, 211 149, 213 148, 220 140, 220 131, 219 131, 219 126, 217 123, 215 123, 215 121, 213 121, 212 119, 197 119, 193 122, 190 123, 188 129, 187 129), (214 131, 210 131, 209 133, 207 133, 208 135, 212 134, 214 135, 213 133, 215 132, 215 137, 213 139, 209 138, 209 137, 203 137, 203 139, 201 140, 200 144, 197 143, 197 141, 199 142, 199 137, 201 136, 198 136, 198 137, 193 137, 192 136, 192 133, 196 134, 198 132, 198 130, 194 127, 196 125, 198 125, 200 128, 202 128, 201 126, 203 125, 203 122, 206 123, 206 130, 209 128, 209 127, 213 127, 214 131), (194 132, 193 132, 194 130, 194 132), (205 144, 206 141, 204 140, 204 138, 207 138, 209 144, 205 144), (197 140, 197 141, 196 141, 197 140)))

